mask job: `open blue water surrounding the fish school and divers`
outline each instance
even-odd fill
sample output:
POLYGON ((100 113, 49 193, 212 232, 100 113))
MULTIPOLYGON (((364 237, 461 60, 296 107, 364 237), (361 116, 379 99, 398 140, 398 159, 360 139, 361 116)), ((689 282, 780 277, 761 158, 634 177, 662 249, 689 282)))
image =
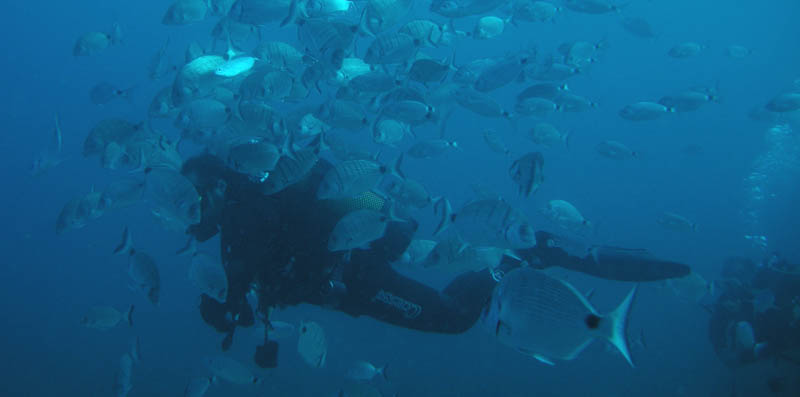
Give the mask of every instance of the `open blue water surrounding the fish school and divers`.
MULTIPOLYGON (((220 336, 198 315, 197 294, 186 278, 188 260, 174 255, 183 237, 162 230, 145 206, 110 213, 86 228, 61 236, 54 222, 71 197, 104 186, 119 175, 83 158, 81 145, 90 128, 108 117, 141 120, 150 98, 162 84, 146 80, 151 55, 167 35, 170 55, 182 59, 190 39, 209 40, 214 21, 185 27, 160 24, 168 3, 162 1, 56 2, 33 0, 4 7, 0 37, 3 88, 0 112, 0 195, 2 261, 0 261, 0 384, 5 396, 100 396, 110 394, 119 356, 133 335, 142 340, 143 363, 134 375, 132 396, 179 395, 191 376, 206 374, 201 358, 215 354, 220 336), (90 30, 109 29, 118 21, 125 43, 93 57, 74 58, 77 37, 90 30), (99 81, 119 86, 139 84, 135 107, 118 101, 92 105, 88 89, 99 81), (58 113, 68 160, 40 178, 28 174, 30 160, 42 147, 58 113), (113 257, 123 225, 129 225, 137 246, 146 247, 160 265, 162 304, 149 305, 126 288, 125 259, 113 257), (93 305, 137 305, 136 326, 98 332, 78 324, 93 305)), ((427 14, 426 4, 416 13, 427 14)), ((746 201, 742 179, 764 149, 769 125, 747 118, 800 77, 800 3, 672 1, 633 2, 626 15, 647 18, 659 33, 653 40, 632 37, 619 26, 617 15, 590 16, 564 11, 553 24, 523 24, 509 28, 499 41, 462 40, 457 59, 504 55, 539 46, 555 51, 569 40, 605 39, 609 48, 599 63, 568 81, 578 94, 594 99, 599 108, 583 114, 554 117, 573 135, 572 148, 545 151, 546 183, 531 199, 518 198, 507 177, 510 159, 488 151, 484 128, 502 131, 516 155, 535 150, 521 133, 500 120, 481 119, 458 111, 448 125, 463 152, 425 162, 408 161, 406 173, 450 197, 458 206, 471 199, 475 181, 496 190, 524 210, 542 228, 554 228, 537 209, 550 199, 566 199, 600 225, 594 242, 641 247, 659 256, 684 261, 711 279, 725 257, 757 256, 743 239, 749 230, 741 216, 746 201), (675 60, 667 50, 683 41, 709 46, 701 56, 675 60), (725 46, 741 44, 752 56, 727 58, 725 46), (720 83, 721 105, 649 123, 630 123, 617 116, 622 106, 656 100, 693 85, 720 83), (601 158, 594 145, 605 139, 626 142, 640 153, 637 161, 601 158), (681 148, 699 144, 704 153, 687 157, 681 148), (697 222, 689 236, 664 231, 655 224, 663 211, 680 213, 697 222)), ((441 20, 441 18, 438 18, 441 20)), ((475 18, 456 22, 470 29, 475 18)), ((292 29, 270 26, 265 37, 291 40, 292 29)), ((367 42, 361 40, 363 51, 367 42)), ((437 53, 437 52, 433 52, 437 53)), ((438 52, 449 55, 449 50, 438 52)), ((513 105, 520 85, 493 95, 513 105)), ((523 123, 524 127, 529 127, 523 123)), ((433 136, 433 131, 419 131, 433 136)), ((175 136, 177 131, 172 131, 175 136)), ((370 141, 362 132, 363 141, 370 141)), ((368 145, 367 145, 368 146, 368 145)), ((369 146, 368 146, 369 147, 369 146)), ((395 155, 391 151, 387 156, 395 155)), ((796 189, 796 188, 795 188, 796 189)), ((795 190, 778 192, 785 200, 769 220, 773 248, 800 259, 795 190), (793 196, 792 196, 793 195, 793 196)), ((421 233, 430 233, 429 228, 421 233)), ((206 247, 215 250, 216 240, 206 247)), ((569 280, 579 289, 596 288, 601 311, 613 308, 629 284, 599 281, 579 275, 569 280)), ((698 305, 675 299, 659 284, 646 284, 632 314, 631 328, 644 329, 649 348, 634 352, 637 368, 629 368, 615 352, 596 343, 578 359, 545 366, 500 346, 474 329, 464 335, 424 334, 397 329, 367 318, 313 307, 281 313, 287 321, 313 319, 322 324, 330 342, 328 365, 308 368, 294 351, 294 340, 281 346, 281 366, 260 371, 265 384, 256 388, 221 385, 209 396, 335 395, 346 383, 343 373, 355 359, 388 362, 392 382, 378 383, 385 395, 703 395, 727 396, 733 373, 715 358, 707 342, 707 313, 698 305)), ((237 334, 232 356, 250 362, 257 342, 248 331, 237 334)), ((760 370, 741 378, 758 391, 760 370)))

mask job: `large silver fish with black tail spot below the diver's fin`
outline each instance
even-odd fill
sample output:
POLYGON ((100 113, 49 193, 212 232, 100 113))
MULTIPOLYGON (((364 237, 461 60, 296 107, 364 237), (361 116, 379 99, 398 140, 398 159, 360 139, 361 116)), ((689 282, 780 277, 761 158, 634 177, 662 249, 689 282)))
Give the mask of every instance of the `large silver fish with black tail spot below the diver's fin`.
POLYGON ((539 361, 572 360, 605 339, 633 366, 625 328, 634 287, 611 313, 600 315, 575 287, 523 267, 508 272, 492 293, 481 324, 500 342, 539 361))

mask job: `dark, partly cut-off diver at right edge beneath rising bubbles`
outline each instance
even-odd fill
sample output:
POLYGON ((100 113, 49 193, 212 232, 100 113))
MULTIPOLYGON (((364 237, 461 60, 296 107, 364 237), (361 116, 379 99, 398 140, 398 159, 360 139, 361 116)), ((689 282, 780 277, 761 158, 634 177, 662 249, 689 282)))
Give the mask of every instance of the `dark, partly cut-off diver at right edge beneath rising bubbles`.
POLYGON ((735 368, 765 358, 800 365, 800 265, 778 255, 728 259, 709 320, 717 357, 735 368))

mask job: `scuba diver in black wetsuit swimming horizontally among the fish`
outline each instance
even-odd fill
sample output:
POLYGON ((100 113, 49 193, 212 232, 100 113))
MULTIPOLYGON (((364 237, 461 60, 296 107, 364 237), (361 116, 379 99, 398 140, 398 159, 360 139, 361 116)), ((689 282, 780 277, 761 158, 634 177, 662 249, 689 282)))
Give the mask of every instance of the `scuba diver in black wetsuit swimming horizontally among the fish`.
MULTIPOLYGON (((253 325, 247 296, 257 297, 256 312, 267 326, 264 344, 256 348, 262 368, 277 365, 278 345, 269 339, 269 312, 274 307, 309 303, 351 316, 366 315, 389 324, 438 333, 470 329, 496 285, 489 271, 455 278, 441 292, 392 269, 406 250, 417 223, 390 221, 382 238, 369 249, 349 255, 328 249, 328 238, 345 214, 357 209, 385 211, 386 201, 374 193, 346 200, 319 200, 316 191, 332 167, 319 159, 308 175, 278 193, 265 194, 259 183, 205 154, 187 160, 182 173, 202 196, 202 220, 187 231, 203 242, 220 234, 222 263, 228 277, 225 303, 203 295, 204 321, 225 333, 227 350, 237 327, 253 325)), ((559 266, 606 279, 653 281, 689 274, 686 265, 659 260, 644 250, 593 249, 586 257, 559 248, 559 238, 536 233, 536 246, 505 256, 496 271, 523 261, 545 268, 559 266)))

